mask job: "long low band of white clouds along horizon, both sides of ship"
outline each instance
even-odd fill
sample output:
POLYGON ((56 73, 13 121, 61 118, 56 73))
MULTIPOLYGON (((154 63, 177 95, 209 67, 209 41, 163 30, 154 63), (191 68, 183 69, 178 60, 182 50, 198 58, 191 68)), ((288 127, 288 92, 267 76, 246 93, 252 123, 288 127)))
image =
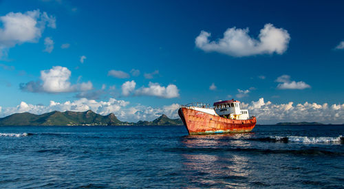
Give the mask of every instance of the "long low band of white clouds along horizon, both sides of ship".
MULTIPOLYGON (((344 103, 343 104, 317 104, 316 102, 304 102, 295 104, 274 104, 265 102, 264 98, 252 101, 250 104, 243 104, 247 107, 250 115, 255 115, 259 124, 275 124, 277 122, 322 122, 325 124, 344 123, 344 103)), ((33 105, 21 102, 17 107, 2 107, 0 117, 12 113, 30 112, 35 114, 47 113, 50 111, 87 111, 91 109, 101 115, 114 113, 121 121, 137 122, 138 120, 153 120, 162 114, 169 118, 178 118, 179 104, 171 104, 163 107, 153 108, 142 104, 133 104, 125 100, 109 98, 108 101, 87 100, 81 98, 72 102, 54 102, 49 105, 33 105)))

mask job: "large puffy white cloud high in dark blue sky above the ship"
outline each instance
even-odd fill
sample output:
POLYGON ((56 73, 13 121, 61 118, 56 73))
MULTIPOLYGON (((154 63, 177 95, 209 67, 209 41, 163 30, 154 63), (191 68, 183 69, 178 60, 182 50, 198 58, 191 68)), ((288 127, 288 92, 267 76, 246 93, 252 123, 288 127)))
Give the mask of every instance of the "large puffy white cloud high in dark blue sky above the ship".
POLYGON ((205 52, 219 52, 229 56, 252 56, 256 54, 283 54, 288 49, 290 35, 287 30, 277 28, 271 23, 260 30, 258 40, 248 35, 248 28, 228 28, 224 38, 209 41, 210 33, 202 31, 195 38, 196 47, 205 52))

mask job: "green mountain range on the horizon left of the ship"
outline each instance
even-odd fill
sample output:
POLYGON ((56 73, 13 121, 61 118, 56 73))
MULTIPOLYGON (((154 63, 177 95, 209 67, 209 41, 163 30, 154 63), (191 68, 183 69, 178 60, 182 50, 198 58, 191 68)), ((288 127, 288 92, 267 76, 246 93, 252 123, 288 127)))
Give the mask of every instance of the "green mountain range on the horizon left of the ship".
POLYGON ((121 122, 116 118, 114 113, 109 115, 99 115, 93 111, 75 112, 75 111, 52 111, 50 113, 43 113, 35 115, 32 113, 14 113, 5 118, 0 118, 0 126, 116 126, 116 125, 182 125, 180 119, 172 120, 166 115, 161 115, 160 118, 152 122, 139 121, 121 122))

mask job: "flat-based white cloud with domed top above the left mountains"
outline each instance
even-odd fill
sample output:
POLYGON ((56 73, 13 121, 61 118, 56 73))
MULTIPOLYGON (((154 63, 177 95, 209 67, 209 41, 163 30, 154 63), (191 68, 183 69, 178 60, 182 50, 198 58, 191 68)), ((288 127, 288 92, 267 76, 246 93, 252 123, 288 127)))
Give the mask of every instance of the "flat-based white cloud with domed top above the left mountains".
POLYGON ((34 93, 66 93, 88 91, 93 88, 90 81, 72 85, 69 81, 71 74, 67 67, 54 66, 52 69, 41 71, 41 80, 21 83, 20 88, 34 93))

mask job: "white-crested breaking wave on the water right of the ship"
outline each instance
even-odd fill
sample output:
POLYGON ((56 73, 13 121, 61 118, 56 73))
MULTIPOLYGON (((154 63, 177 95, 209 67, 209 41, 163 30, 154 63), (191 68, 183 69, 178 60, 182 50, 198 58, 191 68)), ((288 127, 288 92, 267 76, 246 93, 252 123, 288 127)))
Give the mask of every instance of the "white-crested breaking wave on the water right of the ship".
POLYGON ((344 137, 339 135, 338 137, 302 137, 302 136, 287 136, 287 137, 261 137, 251 138, 249 140, 258 140, 261 142, 295 142, 295 143, 341 143, 344 144, 344 137))

